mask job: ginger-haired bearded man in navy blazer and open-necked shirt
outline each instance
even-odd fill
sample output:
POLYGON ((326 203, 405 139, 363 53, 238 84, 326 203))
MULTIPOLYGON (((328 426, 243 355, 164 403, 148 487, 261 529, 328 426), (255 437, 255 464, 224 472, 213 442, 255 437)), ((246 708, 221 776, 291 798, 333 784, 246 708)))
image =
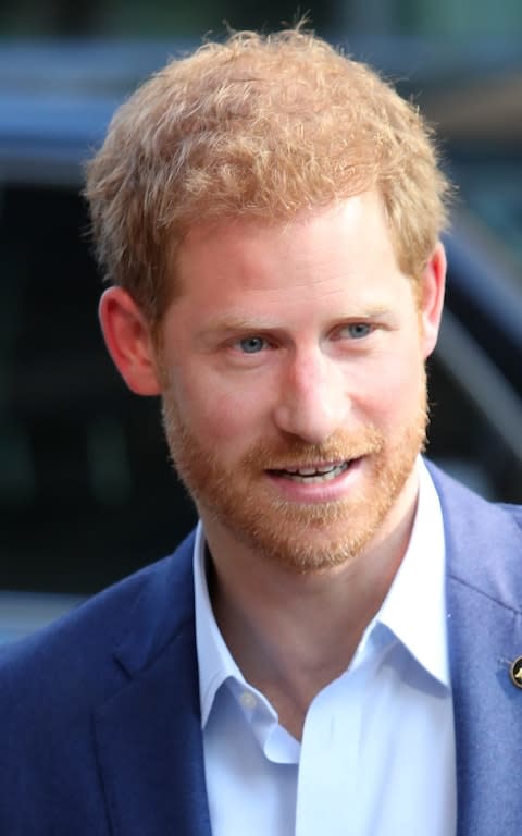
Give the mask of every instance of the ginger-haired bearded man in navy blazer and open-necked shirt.
POLYGON ((446 192, 420 115, 299 28, 116 113, 101 324, 200 525, 5 652, 2 834, 520 832, 520 509, 420 458, 446 192))

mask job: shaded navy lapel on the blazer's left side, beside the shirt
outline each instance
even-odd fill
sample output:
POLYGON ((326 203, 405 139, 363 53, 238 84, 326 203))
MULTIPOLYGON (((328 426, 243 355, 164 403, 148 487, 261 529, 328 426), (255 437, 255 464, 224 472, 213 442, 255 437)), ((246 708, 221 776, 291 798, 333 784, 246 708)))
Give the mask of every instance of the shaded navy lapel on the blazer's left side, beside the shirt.
POLYGON ((117 647, 127 685, 95 712, 114 836, 210 836, 191 545, 147 586, 117 647))

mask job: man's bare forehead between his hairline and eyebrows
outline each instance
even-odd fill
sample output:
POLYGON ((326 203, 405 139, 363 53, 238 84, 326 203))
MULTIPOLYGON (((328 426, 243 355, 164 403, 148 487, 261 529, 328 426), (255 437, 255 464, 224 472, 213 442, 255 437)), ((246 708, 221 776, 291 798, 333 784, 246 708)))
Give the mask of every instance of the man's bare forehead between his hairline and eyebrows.
POLYGON ((302 211, 288 220, 225 219, 192 226, 178 248, 176 280, 187 293, 212 279, 223 290, 234 274, 244 287, 287 279, 303 285, 337 272, 396 267, 382 200, 376 193, 302 211))

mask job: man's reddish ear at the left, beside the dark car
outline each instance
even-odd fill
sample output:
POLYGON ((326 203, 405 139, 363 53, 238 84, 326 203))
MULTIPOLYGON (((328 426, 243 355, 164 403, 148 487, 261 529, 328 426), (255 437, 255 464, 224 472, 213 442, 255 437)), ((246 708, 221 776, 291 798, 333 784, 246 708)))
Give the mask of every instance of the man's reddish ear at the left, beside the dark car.
POLYGON ((103 339, 114 365, 137 395, 158 395, 159 374, 150 328, 122 287, 104 291, 98 308, 103 339))

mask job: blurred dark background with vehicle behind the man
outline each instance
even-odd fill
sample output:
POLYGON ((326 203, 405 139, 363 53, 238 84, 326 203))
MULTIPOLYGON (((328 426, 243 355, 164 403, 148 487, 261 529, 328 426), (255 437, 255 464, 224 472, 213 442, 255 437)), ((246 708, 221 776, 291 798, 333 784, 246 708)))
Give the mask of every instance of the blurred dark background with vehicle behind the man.
MULTIPOLYGON (((430 366, 431 455, 522 501, 522 4, 322 0, 315 30, 437 127, 458 186, 430 366)), ((115 107, 211 33, 278 28, 269 0, 0 2, 0 640, 172 551, 194 512, 159 405, 105 356, 82 163, 115 107)), ((494 532, 492 532, 492 537, 494 532)))

